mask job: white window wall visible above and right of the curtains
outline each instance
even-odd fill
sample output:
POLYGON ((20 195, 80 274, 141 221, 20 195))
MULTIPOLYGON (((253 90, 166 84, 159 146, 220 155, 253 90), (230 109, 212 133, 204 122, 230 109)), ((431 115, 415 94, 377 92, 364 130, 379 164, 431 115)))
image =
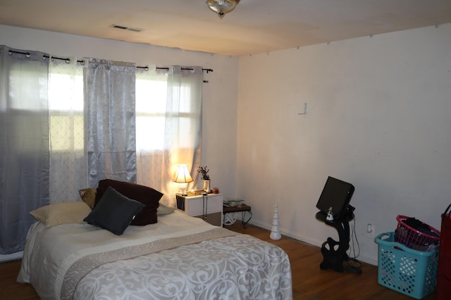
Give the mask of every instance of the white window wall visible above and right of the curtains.
POLYGON ((213 69, 204 73, 209 83, 204 84, 203 93, 202 165, 210 169, 212 186, 218 186, 225 195, 235 195, 238 58, 4 25, 0 25, 0 44, 54 56, 213 69))

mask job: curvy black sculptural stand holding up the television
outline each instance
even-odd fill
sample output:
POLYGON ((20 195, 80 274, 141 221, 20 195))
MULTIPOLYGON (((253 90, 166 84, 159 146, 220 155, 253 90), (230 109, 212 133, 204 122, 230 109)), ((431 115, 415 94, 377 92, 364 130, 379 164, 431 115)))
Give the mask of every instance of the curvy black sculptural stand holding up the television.
POLYGON ((360 274, 362 269, 348 266, 343 266, 344 261, 349 261, 347 256, 347 249, 350 247, 350 221, 354 219, 354 214, 348 214, 343 217, 342 220, 328 221, 326 214, 323 211, 316 213, 316 219, 326 223, 328 226, 332 226, 338 232, 338 242, 333 240, 332 237, 328 237, 326 242, 323 242, 321 246, 321 254, 323 254, 323 261, 320 263, 319 268, 321 270, 333 269, 342 273, 347 270, 351 273, 360 274))

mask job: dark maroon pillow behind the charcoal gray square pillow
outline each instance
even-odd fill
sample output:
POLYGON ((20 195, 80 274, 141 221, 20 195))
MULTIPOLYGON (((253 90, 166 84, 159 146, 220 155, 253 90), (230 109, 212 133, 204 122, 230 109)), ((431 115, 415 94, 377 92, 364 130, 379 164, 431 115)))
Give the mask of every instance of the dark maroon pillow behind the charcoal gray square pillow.
POLYGON ((144 226, 156 223, 156 210, 159 207, 159 200, 163 196, 162 193, 153 188, 136 183, 104 179, 99 181, 94 207, 99 203, 101 196, 104 195, 109 186, 125 197, 146 205, 139 213, 137 213, 130 225, 144 226))

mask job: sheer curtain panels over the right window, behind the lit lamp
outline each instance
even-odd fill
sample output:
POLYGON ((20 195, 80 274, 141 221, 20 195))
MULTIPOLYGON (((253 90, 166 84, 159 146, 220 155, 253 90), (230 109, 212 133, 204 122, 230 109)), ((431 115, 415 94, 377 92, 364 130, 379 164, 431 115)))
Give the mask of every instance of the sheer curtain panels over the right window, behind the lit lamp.
POLYGON ((188 164, 197 185, 202 149, 202 67, 170 67, 169 70, 138 69, 137 178, 163 193, 163 202, 175 207, 178 183, 173 182, 178 164, 188 164))

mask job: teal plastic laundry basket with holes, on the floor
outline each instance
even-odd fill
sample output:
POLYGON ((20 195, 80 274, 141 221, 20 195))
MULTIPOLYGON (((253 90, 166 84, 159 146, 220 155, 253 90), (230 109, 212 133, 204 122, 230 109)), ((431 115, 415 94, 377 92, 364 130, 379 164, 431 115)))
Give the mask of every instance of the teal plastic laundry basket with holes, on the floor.
POLYGON ((437 280, 438 247, 422 252, 394 241, 394 232, 381 233, 374 239, 378 244, 378 284, 415 299, 432 294, 437 280))

